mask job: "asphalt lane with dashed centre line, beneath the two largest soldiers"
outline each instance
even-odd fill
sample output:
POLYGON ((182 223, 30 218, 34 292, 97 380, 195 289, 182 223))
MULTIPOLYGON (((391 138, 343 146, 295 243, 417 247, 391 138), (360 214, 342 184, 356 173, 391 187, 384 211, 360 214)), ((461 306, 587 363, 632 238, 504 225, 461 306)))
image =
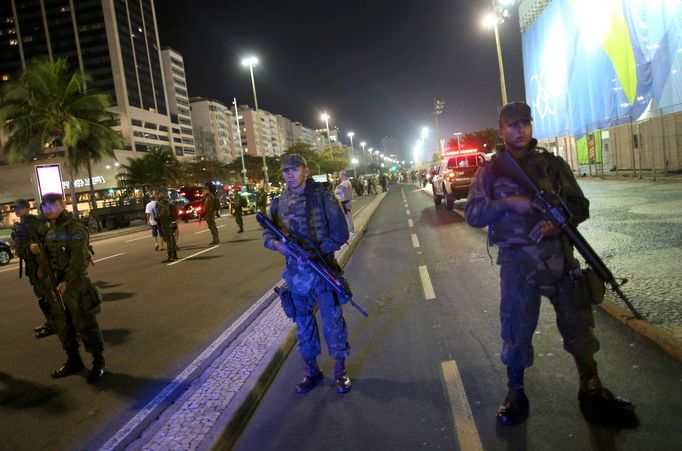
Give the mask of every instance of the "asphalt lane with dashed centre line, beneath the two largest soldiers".
POLYGON ((505 370, 497 267, 485 243, 482 231, 435 208, 421 190, 392 186, 346 266, 370 314, 346 308, 353 389, 336 394, 324 350, 324 383, 296 394, 302 364, 292 352, 237 449, 682 449, 682 363, 600 309, 602 379, 637 405, 640 426, 610 429, 582 418, 575 365, 548 302, 526 377, 531 416, 517 427, 497 424, 505 370))

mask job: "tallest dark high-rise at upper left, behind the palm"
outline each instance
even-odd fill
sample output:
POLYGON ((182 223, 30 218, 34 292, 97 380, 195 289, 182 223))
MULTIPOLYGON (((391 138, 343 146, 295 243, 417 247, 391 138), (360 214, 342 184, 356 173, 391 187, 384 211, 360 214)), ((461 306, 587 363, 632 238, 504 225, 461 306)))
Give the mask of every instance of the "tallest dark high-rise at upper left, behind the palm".
POLYGON ((3 0, 0 35, 0 81, 34 57, 67 58, 111 95, 130 156, 171 145, 153 0, 3 0))

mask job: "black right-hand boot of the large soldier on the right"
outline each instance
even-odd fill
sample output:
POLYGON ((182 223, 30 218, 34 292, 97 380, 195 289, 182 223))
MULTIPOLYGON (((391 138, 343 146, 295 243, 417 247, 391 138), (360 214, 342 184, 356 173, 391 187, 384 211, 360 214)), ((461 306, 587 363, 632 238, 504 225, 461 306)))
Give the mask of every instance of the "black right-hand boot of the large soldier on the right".
POLYGON ((635 428, 639 425, 635 405, 604 388, 594 359, 580 361, 576 358, 576 366, 580 374, 578 402, 588 422, 620 428, 635 428))

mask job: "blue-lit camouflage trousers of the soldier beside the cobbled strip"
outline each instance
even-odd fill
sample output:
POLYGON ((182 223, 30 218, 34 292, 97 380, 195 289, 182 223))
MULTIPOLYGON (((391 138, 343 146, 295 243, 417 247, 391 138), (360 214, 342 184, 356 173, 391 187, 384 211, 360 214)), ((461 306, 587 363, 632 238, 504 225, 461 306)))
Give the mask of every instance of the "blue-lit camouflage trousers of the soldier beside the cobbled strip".
POLYGON ((320 332, 314 313, 315 305, 318 305, 329 356, 346 358, 350 352, 348 329, 336 295, 331 291, 312 292, 305 296, 292 292, 291 295, 296 307, 296 338, 301 357, 312 360, 321 352, 320 332))

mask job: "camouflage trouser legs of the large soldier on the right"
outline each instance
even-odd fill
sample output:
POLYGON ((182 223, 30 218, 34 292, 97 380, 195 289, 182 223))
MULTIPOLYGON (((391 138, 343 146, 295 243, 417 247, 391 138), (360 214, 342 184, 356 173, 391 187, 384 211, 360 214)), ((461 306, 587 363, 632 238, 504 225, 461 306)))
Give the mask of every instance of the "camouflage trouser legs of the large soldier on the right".
MULTIPOLYGON (((515 261, 500 261, 500 322, 502 323, 502 362, 512 368, 533 365, 533 333, 540 315, 540 293, 519 271, 515 261)), ((564 349, 582 362, 591 361, 599 350, 593 333, 594 316, 589 300, 583 299, 575 283, 566 275, 557 292, 549 298, 564 349)))

